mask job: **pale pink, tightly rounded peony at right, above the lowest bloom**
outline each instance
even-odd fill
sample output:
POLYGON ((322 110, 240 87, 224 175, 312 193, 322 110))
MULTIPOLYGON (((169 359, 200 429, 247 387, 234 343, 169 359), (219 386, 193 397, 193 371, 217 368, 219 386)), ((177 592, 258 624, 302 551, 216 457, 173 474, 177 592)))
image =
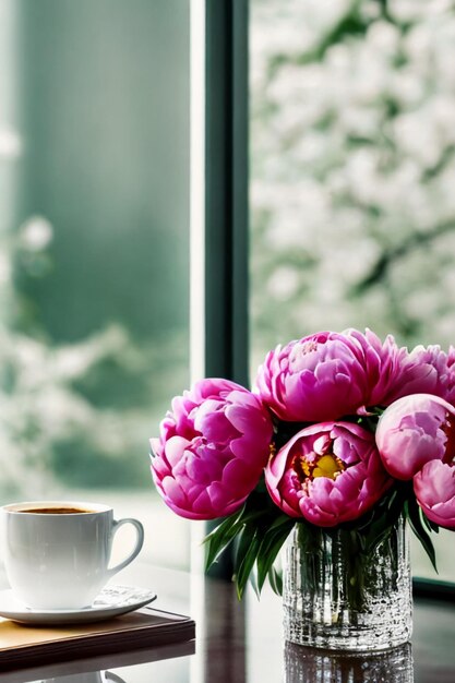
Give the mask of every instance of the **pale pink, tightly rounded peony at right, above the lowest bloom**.
POLYGON ((411 479, 429 460, 442 460, 455 443, 455 409, 431 394, 404 396, 386 408, 376 429, 385 469, 411 479))

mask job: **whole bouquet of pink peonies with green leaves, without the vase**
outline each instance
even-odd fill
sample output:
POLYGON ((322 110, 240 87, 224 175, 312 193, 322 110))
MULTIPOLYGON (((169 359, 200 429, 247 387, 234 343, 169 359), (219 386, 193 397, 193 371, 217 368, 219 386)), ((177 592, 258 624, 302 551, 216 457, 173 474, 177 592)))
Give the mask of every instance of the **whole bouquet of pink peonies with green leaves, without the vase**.
POLYGON ((206 379, 172 400, 152 439, 166 504, 218 519, 211 566, 235 544, 235 580, 280 592, 296 525, 346 529, 361 558, 405 518, 434 567, 431 532, 455 530, 455 349, 408 351, 367 329, 320 332, 268 352, 250 392, 206 379))

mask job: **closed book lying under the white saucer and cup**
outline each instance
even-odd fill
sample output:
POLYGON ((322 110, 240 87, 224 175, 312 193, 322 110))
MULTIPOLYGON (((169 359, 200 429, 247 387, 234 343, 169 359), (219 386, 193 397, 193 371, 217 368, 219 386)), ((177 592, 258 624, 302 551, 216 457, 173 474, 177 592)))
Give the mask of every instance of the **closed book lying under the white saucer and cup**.
POLYGON ((1 620, 0 672, 141 648, 149 650, 194 638, 195 623, 190 616, 148 607, 85 625, 31 626, 1 620))

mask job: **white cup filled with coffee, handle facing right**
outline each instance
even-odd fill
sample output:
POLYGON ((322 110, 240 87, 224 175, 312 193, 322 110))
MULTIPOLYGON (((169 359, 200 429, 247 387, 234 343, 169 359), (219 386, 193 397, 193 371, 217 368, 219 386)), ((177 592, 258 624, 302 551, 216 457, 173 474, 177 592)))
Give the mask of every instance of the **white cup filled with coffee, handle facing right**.
POLYGON ((7 578, 15 598, 35 610, 91 606, 144 542, 142 524, 113 519, 108 505, 32 501, 4 505, 1 513, 7 578), (109 567, 113 535, 124 524, 135 527, 134 549, 109 567))

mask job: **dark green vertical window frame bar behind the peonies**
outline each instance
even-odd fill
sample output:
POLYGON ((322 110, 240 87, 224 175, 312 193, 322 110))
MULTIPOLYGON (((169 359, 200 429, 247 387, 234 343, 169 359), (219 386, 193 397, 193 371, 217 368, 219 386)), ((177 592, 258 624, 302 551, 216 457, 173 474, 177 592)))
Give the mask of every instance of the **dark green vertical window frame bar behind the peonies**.
MULTIPOLYGON (((205 257, 203 314, 199 321, 204 328, 202 368, 205 376, 225 378, 248 386, 249 0, 204 0, 203 4, 205 257)), ((194 225, 193 228, 197 229, 194 225)), ((196 340, 197 334, 193 338, 196 340)), ((207 523, 206 530, 216 524, 207 523)), ((232 566, 229 550, 209 575, 230 580, 232 566)))

